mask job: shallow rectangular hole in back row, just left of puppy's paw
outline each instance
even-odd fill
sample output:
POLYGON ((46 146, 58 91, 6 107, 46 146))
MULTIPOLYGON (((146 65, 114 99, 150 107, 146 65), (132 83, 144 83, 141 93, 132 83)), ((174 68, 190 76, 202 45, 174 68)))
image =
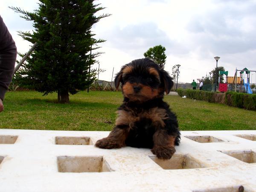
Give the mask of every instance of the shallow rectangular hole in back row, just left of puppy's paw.
POLYGON ((93 145, 90 137, 55 137, 56 145, 93 145))

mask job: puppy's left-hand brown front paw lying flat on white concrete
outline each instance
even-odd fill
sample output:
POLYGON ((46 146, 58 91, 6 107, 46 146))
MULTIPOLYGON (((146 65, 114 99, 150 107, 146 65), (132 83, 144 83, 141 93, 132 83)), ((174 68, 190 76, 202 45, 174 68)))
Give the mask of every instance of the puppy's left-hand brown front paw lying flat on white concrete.
POLYGON ((106 137, 101 140, 98 140, 95 146, 99 148, 110 149, 110 148, 121 148, 124 146, 124 144, 120 140, 117 140, 116 138, 106 137))

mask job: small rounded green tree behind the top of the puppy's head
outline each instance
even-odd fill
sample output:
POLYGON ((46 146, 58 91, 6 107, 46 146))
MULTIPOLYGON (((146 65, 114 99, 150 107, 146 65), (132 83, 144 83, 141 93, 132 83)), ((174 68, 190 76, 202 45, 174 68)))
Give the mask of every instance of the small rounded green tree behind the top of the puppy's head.
POLYGON ((159 65, 160 68, 164 68, 166 63, 166 48, 162 45, 154 46, 153 48, 149 48, 147 52, 144 53, 144 56, 147 58, 151 58, 156 64, 159 65))

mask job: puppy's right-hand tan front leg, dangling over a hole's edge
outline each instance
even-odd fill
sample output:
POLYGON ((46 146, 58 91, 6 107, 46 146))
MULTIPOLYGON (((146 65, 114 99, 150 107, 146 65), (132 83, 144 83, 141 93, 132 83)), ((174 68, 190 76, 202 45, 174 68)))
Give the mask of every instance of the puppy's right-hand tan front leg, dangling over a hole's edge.
POLYGON ((151 152, 159 159, 170 159, 175 153, 175 136, 171 136, 164 129, 158 129, 153 135, 154 147, 151 152))

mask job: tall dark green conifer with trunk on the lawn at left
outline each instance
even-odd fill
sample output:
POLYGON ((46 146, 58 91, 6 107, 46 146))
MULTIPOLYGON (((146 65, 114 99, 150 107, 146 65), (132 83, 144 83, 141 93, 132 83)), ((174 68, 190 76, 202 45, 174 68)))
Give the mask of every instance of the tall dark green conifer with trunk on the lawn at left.
POLYGON ((32 20, 35 31, 19 32, 31 42, 38 43, 34 52, 20 69, 18 76, 23 85, 33 86, 44 95, 58 92, 58 102, 68 103, 69 93, 84 90, 95 79, 96 71, 90 70, 96 56, 94 44, 105 40, 93 38, 91 28, 109 14, 95 16, 105 9, 94 0, 40 0, 39 8, 26 12, 10 7, 26 20, 32 20))

